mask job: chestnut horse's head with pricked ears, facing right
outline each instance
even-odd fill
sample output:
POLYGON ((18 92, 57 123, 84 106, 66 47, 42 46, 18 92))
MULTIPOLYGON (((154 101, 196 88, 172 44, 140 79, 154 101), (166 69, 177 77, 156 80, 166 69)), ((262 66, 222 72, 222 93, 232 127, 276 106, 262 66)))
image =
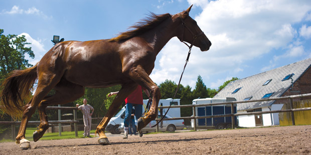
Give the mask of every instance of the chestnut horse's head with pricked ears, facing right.
POLYGON ((212 43, 198 26, 197 21, 189 16, 191 7, 192 5, 185 11, 176 14, 176 20, 180 21, 179 27, 181 27, 178 28, 181 30, 178 32, 177 37, 181 41, 186 41, 199 47, 202 51, 209 50, 212 43))

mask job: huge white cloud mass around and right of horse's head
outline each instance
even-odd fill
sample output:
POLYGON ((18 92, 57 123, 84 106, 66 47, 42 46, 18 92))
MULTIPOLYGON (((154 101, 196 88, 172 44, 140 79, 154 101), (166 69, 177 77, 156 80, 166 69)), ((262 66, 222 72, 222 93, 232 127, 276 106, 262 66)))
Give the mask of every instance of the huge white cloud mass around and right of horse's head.
MULTIPOLYGON (((202 7, 195 17, 198 25, 211 40, 209 51, 201 52, 193 47, 190 61, 183 77, 183 84, 219 74, 234 74, 244 70, 244 62, 271 52, 285 49, 281 56, 303 54, 303 46, 293 45, 297 30, 293 24, 302 21, 311 9, 311 1, 293 0, 188 0, 202 7), (207 2, 205 4, 205 2, 207 2), (204 3, 204 4, 203 4, 204 3), (297 11, 299 10, 299 11, 297 11)), ((190 15, 191 12, 190 12, 190 15)), ((301 35, 301 31, 300 31, 301 35)), ((157 83, 163 79, 178 81, 187 56, 187 47, 178 39, 172 39, 158 55, 160 67, 153 70, 151 77, 157 83), (157 76, 156 76, 157 75, 157 76)), ((271 63, 272 67, 273 64, 271 63)), ((218 77, 219 78, 219 77, 218 77)), ((207 86, 220 84, 208 83, 207 86)), ((221 83, 222 84, 222 83, 221 83)), ((192 87, 194 85, 190 85, 192 87)))

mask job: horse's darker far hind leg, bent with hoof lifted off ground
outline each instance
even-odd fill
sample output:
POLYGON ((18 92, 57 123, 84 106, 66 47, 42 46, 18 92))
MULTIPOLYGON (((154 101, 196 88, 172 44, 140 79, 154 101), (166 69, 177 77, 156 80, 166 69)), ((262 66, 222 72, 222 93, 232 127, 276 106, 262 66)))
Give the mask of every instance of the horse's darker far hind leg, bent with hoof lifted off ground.
POLYGON ((40 114, 40 125, 33 133, 34 141, 39 140, 44 132, 49 128, 48 116, 46 107, 53 104, 65 104, 81 97, 84 94, 84 87, 71 83, 66 80, 61 80, 54 88, 56 93, 52 96, 45 97, 38 105, 40 114))

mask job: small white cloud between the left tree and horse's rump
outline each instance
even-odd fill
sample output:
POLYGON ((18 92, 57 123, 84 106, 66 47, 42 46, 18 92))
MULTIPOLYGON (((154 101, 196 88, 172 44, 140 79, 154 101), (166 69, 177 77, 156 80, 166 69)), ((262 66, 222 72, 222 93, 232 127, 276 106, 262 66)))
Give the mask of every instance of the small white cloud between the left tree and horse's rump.
POLYGON ((35 58, 29 58, 29 56, 26 56, 26 59, 29 60, 29 63, 31 64, 36 64, 37 62, 40 61, 40 59, 43 57, 43 55, 47 52, 44 49, 44 45, 41 41, 41 39, 34 39, 32 38, 28 33, 21 33, 19 36, 25 35, 25 38, 27 39, 27 42, 31 43, 26 45, 27 47, 32 47, 32 50, 34 51, 35 58))

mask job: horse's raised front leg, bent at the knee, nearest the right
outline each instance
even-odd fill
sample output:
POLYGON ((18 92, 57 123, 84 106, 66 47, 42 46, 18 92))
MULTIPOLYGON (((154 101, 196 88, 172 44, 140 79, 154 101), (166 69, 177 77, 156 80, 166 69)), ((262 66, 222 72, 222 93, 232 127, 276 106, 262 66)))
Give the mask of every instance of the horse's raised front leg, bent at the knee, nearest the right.
POLYGON ((157 118, 158 115, 158 104, 161 98, 160 88, 156 83, 154 83, 149 75, 145 72, 144 68, 140 65, 129 69, 128 75, 132 80, 137 82, 139 85, 145 87, 149 90, 150 95, 152 95, 152 104, 147 113, 137 120, 137 131, 145 127, 151 120, 157 118))

